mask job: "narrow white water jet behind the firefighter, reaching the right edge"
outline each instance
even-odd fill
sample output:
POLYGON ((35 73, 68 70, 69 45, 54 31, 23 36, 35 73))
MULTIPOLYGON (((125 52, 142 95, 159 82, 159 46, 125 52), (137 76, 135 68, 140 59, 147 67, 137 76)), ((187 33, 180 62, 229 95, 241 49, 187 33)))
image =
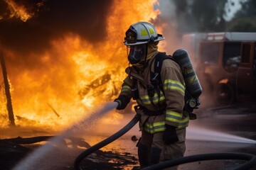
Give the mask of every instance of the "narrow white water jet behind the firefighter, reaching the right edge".
POLYGON ((238 142, 238 143, 256 144, 255 140, 250 140, 245 137, 239 137, 236 135, 229 135, 223 132, 216 132, 213 130, 207 130, 207 129, 195 128, 195 127, 187 128, 186 138, 187 140, 238 142))

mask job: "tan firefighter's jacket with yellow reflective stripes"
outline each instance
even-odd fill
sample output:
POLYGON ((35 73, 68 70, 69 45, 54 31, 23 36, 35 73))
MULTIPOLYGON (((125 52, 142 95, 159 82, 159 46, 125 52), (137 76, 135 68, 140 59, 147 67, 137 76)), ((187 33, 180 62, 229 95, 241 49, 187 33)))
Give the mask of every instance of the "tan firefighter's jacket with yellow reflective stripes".
POLYGON ((140 126, 146 132, 162 132, 165 124, 173 125, 181 129, 188 126, 188 113, 183 112, 185 82, 181 73, 181 68, 173 60, 164 60, 161 68, 161 81, 164 91, 154 89, 150 96, 146 85, 150 84, 150 72, 154 71, 154 57, 149 60, 149 64, 142 72, 137 72, 133 67, 128 67, 127 78, 122 84, 121 94, 131 97, 133 79, 137 79, 139 98, 137 103, 147 108, 149 111, 158 111, 165 108, 164 115, 142 115, 140 126), (151 64, 152 62, 152 64, 151 64))

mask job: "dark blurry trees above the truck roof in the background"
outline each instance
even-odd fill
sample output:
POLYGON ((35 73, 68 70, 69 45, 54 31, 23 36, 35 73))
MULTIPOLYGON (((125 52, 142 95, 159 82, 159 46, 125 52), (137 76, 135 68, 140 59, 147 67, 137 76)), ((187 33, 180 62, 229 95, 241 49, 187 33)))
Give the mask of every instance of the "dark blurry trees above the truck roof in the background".
POLYGON ((255 0, 240 0, 241 9, 232 21, 226 21, 225 16, 234 7, 234 0, 170 2, 176 6, 176 28, 181 32, 255 31, 255 0))

